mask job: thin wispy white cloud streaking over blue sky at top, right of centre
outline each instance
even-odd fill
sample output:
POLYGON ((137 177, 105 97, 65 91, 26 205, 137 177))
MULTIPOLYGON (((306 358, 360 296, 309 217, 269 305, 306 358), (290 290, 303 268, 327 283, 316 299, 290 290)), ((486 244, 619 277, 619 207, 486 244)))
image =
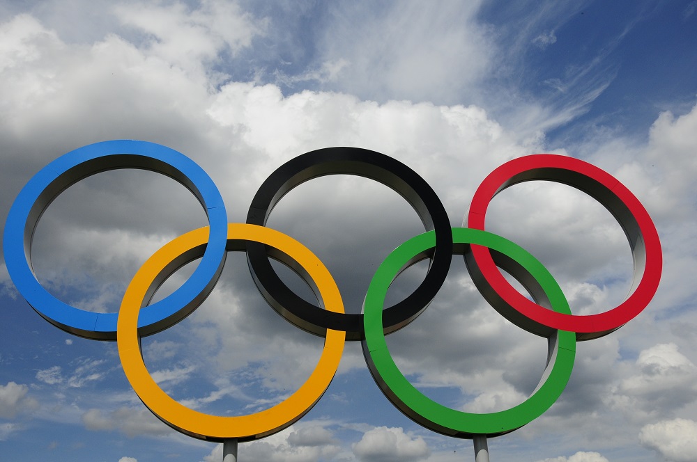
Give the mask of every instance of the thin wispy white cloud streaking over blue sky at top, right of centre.
MULTIPOLYGON (((525 57, 530 48, 555 42, 554 31, 579 8, 577 3, 503 7, 507 22, 493 26, 486 22, 486 2, 423 8, 409 1, 370 10, 339 3, 322 15, 323 33, 309 67, 348 63, 319 88, 378 102, 477 104, 515 127, 519 139, 544 138, 545 131, 588 111, 617 74, 608 60, 614 43, 598 56, 583 56, 585 61, 569 57, 567 70, 547 79, 562 91, 539 91, 540 74, 548 73, 526 66, 525 57)), ((282 74, 277 81, 291 82, 292 88, 292 77, 282 74)))

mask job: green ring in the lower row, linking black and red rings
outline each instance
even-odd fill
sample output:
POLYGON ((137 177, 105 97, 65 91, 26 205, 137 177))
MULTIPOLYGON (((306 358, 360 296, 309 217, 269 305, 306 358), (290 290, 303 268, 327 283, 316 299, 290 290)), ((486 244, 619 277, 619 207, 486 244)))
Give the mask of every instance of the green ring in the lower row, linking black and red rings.
MULTIPOLYGON (((542 263, 520 246, 482 230, 452 228, 453 253, 465 253, 478 244, 491 248, 514 260, 537 281, 551 308, 571 314, 569 303, 556 280, 542 263)), ((558 330, 549 337, 549 355, 539 385, 526 401, 496 413, 474 414, 457 411, 424 396, 401 374, 390 356, 383 334, 383 304, 385 295, 397 275, 421 260, 436 245, 432 231, 409 239, 396 248, 378 267, 363 305, 365 340, 363 355, 373 378, 385 396, 399 410, 418 424, 448 436, 474 438, 477 435, 499 436, 523 427, 542 415, 558 399, 566 387, 574 367, 576 334, 558 330)))

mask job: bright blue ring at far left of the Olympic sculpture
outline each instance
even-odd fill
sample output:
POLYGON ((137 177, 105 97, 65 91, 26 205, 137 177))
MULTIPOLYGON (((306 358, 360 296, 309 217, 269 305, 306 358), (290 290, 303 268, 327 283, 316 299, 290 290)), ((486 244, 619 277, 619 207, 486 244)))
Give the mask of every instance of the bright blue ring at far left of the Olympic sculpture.
POLYGON ((61 191, 85 177, 118 168, 152 170, 183 184, 206 209, 210 225, 206 250, 192 276, 141 311, 141 335, 158 333, 190 314, 215 286, 227 255, 227 212, 220 191, 181 152, 146 141, 118 140, 86 145, 52 161, 29 180, 10 208, 3 236, 5 263, 15 287, 38 314, 68 333, 93 340, 116 340, 118 313, 80 310, 49 294, 31 267, 31 238, 41 215, 61 191))

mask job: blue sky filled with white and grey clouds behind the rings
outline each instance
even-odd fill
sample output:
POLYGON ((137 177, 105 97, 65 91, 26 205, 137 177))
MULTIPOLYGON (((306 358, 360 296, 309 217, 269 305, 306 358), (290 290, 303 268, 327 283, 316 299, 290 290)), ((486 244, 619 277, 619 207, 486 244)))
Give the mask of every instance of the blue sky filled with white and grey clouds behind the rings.
MULTIPOLYGON (((161 143, 194 159, 220 188, 231 222, 245 221, 275 168, 318 148, 399 159, 434 188, 454 226, 484 177, 507 160, 553 152, 590 161, 654 219, 661 287, 629 324, 579 343, 560 399, 489 440, 491 460, 691 461, 696 13, 689 0, 1 1, 0 223, 49 161, 112 139, 161 143)), ((202 225, 204 212, 173 180, 100 173, 47 209, 33 239, 34 269, 61 300, 115 312, 147 257, 202 225)), ((423 230, 397 193, 344 176, 298 186, 268 226, 325 262, 350 312, 360 312, 378 264, 423 230)), ((620 225, 569 186, 507 189, 493 200, 487 228, 536 255, 575 313, 613 308, 631 287, 620 225)), ((423 273, 422 265, 406 271, 390 296, 404 296, 423 273)), ((33 312, 4 264, 0 308, 0 459, 222 460, 222 445, 151 415, 125 379, 116 343, 73 337, 33 312)), ((171 397, 205 413, 242 415, 296 390, 322 344, 268 308, 245 255, 231 253, 206 302, 147 337, 143 351, 171 397)), ((388 345, 420 390, 470 412, 522 402, 546 359, 546 340, 490 308, 459 256, 434 303, 388 345)), ((397 411, 355 342, 312 411, 239 447, 243 462, 473 457, 470 440, 433 433, 397 411)))

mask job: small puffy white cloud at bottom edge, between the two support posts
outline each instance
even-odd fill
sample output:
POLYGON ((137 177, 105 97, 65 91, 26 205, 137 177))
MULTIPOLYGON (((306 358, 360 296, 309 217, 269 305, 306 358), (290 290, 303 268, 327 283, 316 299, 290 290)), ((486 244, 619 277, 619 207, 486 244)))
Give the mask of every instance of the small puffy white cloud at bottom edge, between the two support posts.
POLYGON ((422 461, 431 451, 420 436, 408 436, 401 428, 377 427, 353 444, 353 454, 362 462, 398 462, 422 461))

